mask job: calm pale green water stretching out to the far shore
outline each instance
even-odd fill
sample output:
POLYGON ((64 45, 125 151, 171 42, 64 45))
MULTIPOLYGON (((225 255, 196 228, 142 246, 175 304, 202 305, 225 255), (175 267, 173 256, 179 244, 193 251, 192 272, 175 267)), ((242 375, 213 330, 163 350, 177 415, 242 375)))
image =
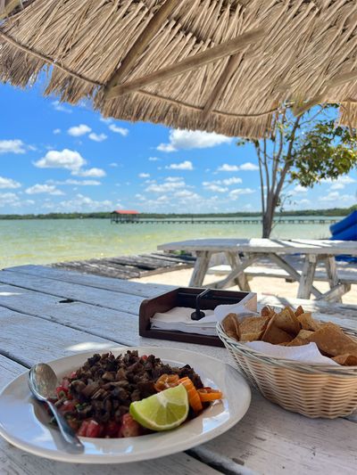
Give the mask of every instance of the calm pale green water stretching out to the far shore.
MULTIPOLYGON (((112 225, 109 219, 0 220, 0 268, 137 254, 184 239, 252 238, 261 234, 261 224, 112 225)), ((322 239, 329 235, 328 225, 287 224, 277 225, 271 237, 322 239)))

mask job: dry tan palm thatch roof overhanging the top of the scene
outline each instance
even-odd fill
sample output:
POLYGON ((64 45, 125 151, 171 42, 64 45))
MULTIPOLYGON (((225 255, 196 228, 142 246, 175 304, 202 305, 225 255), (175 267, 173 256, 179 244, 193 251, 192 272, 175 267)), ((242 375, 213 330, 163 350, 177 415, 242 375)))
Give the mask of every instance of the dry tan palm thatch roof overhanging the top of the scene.
MULTIPOLYGON (((4 0, 0 0, 3 1, 4 0)), ((6 0, 9 1, 9 0, 6 0)), ((0 79, 104 116, 262 137, 286 103, 357 126, 355 0, 32 0, 0 26, 0 79)))

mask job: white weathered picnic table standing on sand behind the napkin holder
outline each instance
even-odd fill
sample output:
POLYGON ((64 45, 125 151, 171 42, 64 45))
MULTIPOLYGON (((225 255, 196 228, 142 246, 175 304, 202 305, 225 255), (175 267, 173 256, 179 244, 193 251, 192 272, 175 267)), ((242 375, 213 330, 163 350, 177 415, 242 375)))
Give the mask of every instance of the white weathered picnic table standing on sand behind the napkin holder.
POLYGON ((212 254, 224 252, 231 266, 231 272, 226 278, 210 283, 210 287, 223 289, 237 283, 242 291, 250 291, 249 283, 244 273, 245 268, 261 258, 270 258, 284 269, 295 281, 299 282, 297 297, 309 299, 311 293, 317 299, 340 301, 341 296, 351 289, 349 283, 340 283, 336 269, 335 256, 348 254, 357 256, 357 242, 328 241, 328 240, 281 240, 281 239, 195 239, 190 241, 169 242, 158 246, 159 250, 186 250, 195 252, 195 269, 189 285, 201 286, 207 273, 212 254), (239 257, 244 253, 245 258, 239 257), (303 272, 299 274, 282 255, 303 254, 303 272), (313 285, 316 264, 319 260, 325 262, 327 281, 330 290, 320 292, 313 285))

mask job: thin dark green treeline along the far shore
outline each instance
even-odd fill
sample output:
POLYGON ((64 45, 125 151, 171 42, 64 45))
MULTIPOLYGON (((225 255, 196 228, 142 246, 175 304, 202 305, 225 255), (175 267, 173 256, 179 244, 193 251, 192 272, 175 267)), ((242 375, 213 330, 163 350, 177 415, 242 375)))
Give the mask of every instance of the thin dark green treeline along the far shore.
MULTIPOLYGON (((276 213, 275 217, 295 217, 295 216, 347 216, 353 210, 357 209, 357 205, 350 208, 330 208, 330 209, 303 209, 295 211, 281 211, 276 213)), ((29 215, 0 215, 0 219, 86 219, 98 218, 109 219, 111 211, 92 212, 92 213, 47 213, 47 214, 29 214, 29 215)), ((174 217, 262 217, 262 212, 239 212, 237 213, 140 213, 141 218, 174 218, 174 217)))

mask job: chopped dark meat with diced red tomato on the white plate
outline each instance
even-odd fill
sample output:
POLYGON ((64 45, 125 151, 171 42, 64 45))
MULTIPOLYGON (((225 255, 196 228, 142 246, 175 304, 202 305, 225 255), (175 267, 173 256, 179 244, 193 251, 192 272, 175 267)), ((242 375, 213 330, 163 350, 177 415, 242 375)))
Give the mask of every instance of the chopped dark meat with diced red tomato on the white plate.
POLYGON ((195 389, 203 389, 200 376, 188 364, 172 367, 154 355, 138 356, 136 350, 116 357, 112 353, 95 354, 63 378, 55 405, 79 436, 144 435, 148 430, 134 421, 129 406, 157 394, 161 389, 156 382, 165 380, 165 375, 176 375, 175 381, 188 378, 195 389))

